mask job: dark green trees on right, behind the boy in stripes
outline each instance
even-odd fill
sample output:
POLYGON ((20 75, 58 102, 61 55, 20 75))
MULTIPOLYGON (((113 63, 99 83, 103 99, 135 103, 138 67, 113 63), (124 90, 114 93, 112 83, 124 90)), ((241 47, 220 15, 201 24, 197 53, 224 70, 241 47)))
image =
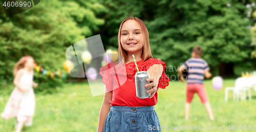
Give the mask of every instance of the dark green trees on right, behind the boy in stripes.
POLYGON ((246 17, 246 3, 221 0, 104 1, 108 8, 104 26, 109 30, 109 43, 105 45, 117 47, 121 21, 128 16, 137 16, 145 22, 150 33, 154 58, 167 62, 169 75, 177 74, 177 67, 190 58, 191 49, 196 45, 202 46, 203 59, 216 74, 219 70, 220 75, 233 75, 234 63, 248 59, 252 50, 248 47, 251 39, 246 28, 252 21, 246 17))

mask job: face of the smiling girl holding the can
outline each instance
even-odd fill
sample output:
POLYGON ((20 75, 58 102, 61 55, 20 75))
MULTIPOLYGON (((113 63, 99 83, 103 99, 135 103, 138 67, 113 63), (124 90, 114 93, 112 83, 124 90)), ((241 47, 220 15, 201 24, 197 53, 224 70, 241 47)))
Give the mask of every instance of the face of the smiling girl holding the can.
POLYGON ((142 50, 143 40, 142 29, 136 20, 127 20, 123 23, 120 41, 124 50, 127 52, 142 50))

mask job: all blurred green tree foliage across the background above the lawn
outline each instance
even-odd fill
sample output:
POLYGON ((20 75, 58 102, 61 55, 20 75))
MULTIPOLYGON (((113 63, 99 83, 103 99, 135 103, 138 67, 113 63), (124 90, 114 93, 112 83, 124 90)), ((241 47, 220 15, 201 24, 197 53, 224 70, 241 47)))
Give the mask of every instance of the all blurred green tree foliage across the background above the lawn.
MULTIPOLYGON (((220 63, 238 65, 246 61, 254 65, 249 60, 253 47, 247 29, 253 20, 246 17, 246 4, 251 2, 254 1, 46 0, 10 17, 1 8, 0 82, 12 82, 13 66, 26 54, 50 72, 60 69, 67 74, 63 69, 65 50, 96 34, 101 35, 105 49, 117 49, 120 23, 129 16, 145 22, 153 56, 167 63, 168 75, 177 74, 178 66, 190 58, 195 45, 203 47, 203 59, 212 71, 218 71, 220 63)), ((41 74, 35 74, 35 80, 45 82, 38 89, 57 87, 61 81, 41 74)))

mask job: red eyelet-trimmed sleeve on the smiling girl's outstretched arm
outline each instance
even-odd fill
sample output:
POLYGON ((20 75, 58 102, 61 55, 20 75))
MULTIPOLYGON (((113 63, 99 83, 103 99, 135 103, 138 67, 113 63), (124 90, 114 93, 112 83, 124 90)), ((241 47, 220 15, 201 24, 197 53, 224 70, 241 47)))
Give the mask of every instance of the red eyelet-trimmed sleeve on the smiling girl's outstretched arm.
POLYGON ((158 86, 157 88, 161 88, 161 89, 165 89, 166 86, 169 85, 169 81, 170 81, 170 78, 165 74, 165 68, 166 68, 166 63, 159 60, 159 59, 154 59, 154 58, 151 58, 150 60, 148 60, 148 62, 146 63, 146 70, 148 68, 150 68, 151 66, 153 66, 154 64, 162 64, 163 65, 163 71, 162 71, 162 75, 161 77, 159 78, 159 82, 158 82, 158 86))

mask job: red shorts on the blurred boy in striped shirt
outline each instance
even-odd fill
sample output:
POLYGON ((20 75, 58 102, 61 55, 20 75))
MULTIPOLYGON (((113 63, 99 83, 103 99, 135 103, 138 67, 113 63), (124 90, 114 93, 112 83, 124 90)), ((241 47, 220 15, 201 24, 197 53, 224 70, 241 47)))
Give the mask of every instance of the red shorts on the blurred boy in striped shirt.
POLYGON ((208 102, 208 98, 203 84, 187 84, 187 99, 186 102, 193 100, 194 94, 197 93, 202 103, 208 102))

